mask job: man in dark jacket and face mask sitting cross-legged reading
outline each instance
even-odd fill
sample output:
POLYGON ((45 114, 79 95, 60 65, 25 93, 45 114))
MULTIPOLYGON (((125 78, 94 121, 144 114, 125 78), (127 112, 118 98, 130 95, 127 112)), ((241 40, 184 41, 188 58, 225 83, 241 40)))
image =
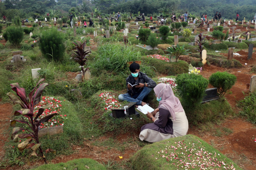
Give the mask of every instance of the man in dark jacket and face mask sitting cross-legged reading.
POLYGON ((143 98, 146 97, 155 86, 157 86, 157 83, 155 83, 145 73, 140 72, 139 64, 132 63, 129 69, 131 74, 126 79, 127 93, 120 94, 118 99, 126 100, 128 102, 136 102, 135 107, 138 107, 138 105, 144 106, 146 103, 142 102, 143 98), (132 87, 134 84, 138 85, 132 87))

